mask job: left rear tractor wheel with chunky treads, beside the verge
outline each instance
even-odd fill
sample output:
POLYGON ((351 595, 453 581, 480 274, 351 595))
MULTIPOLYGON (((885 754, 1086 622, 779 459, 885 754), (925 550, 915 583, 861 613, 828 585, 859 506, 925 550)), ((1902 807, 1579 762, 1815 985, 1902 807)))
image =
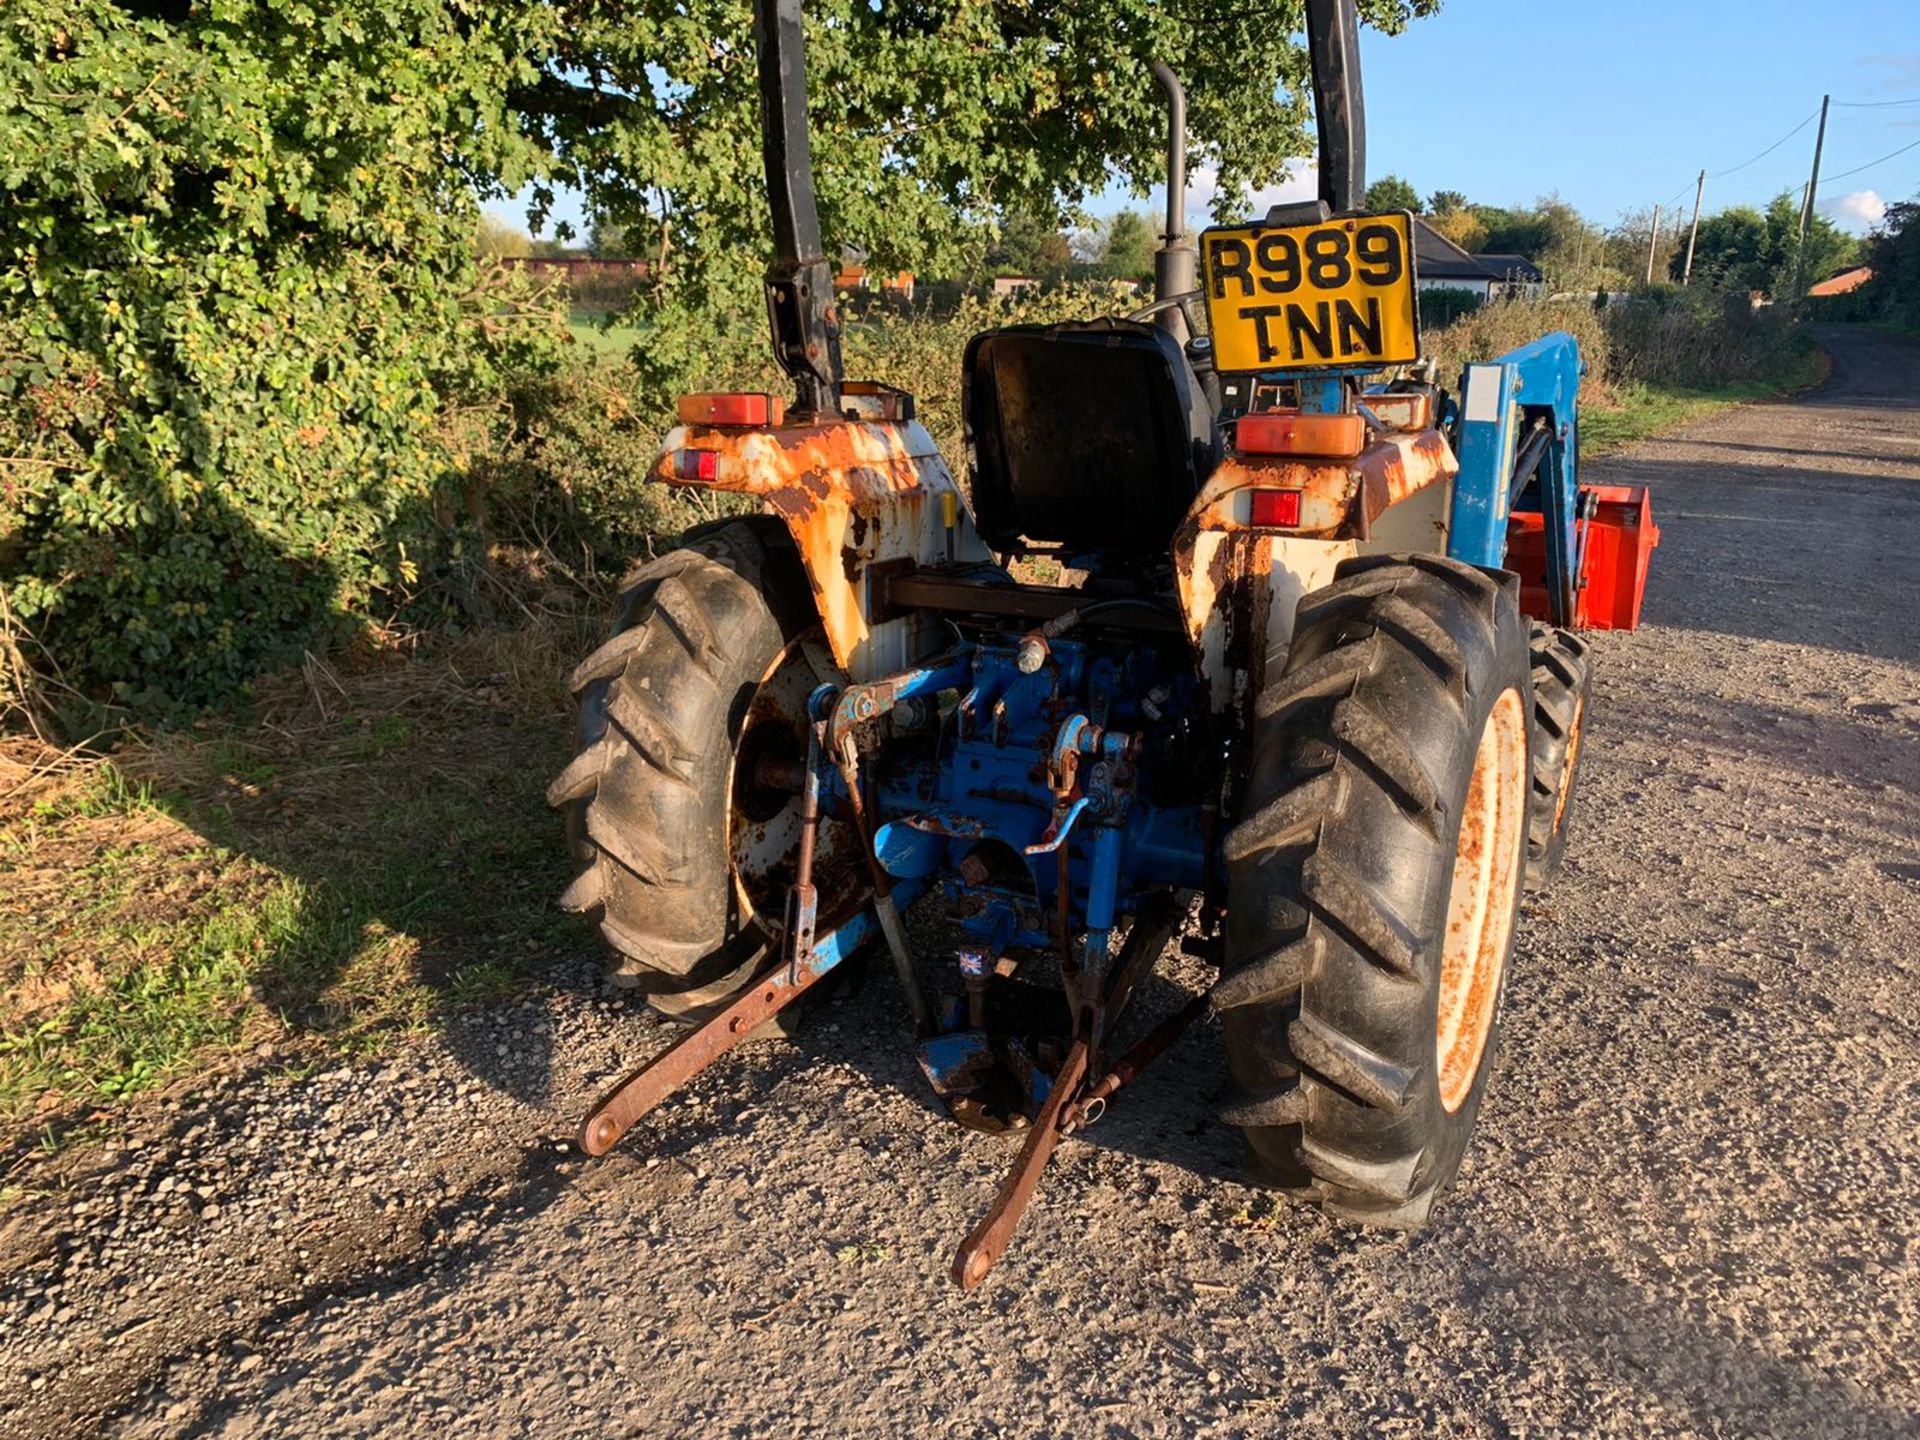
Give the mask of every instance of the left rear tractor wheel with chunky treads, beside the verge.
MULTIPOLYGON (((547 803, 580 872, 561 908, 591 914, 611 981, 674 1020, 716 1012, 778 939, 799 803, 758 774, 804 760, 806 693, 837 678, 816 626, 780 520, 716 520, 628 578, 612 637, 568 682, 580 749, 547 803)), ((822 824, 822 864, 845 829, 822 824)), ((835 874, 845 889, 856 870, 835 874)), ((824 885, 822 922, 845 902, 824 885)))

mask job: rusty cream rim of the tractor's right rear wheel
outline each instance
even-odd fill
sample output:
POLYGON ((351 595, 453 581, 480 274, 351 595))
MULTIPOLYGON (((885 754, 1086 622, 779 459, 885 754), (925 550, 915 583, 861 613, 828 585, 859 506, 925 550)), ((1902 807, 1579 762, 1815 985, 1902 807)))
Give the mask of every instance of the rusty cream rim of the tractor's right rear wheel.
POLYGON ((1440 1104, 1459 1110, 1486 1056, 1513 931, 1526 822, 1526 710, 1521 691, 1498 701, 1480 732, 1453 854, 1434 1064, 1440 1104))

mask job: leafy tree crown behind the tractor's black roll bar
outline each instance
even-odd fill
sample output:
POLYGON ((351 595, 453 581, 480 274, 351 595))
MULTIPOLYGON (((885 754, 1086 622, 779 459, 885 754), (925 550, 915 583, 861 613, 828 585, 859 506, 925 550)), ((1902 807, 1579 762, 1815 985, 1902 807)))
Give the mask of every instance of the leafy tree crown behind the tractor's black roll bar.
MULTIPOLYGON (((518 0, 532 4, 532 0, 518 0)), ((1436 0, 1359 0, 1396 33, 1436 0)), ((766 317, 766 186, 753 36, 741 0, 580 0, 530 56, 515 102, 588 194, 664 265, 643 290, 655 324, 637 357, 672 394, 716 346, 758 344, 766 317)), ((985 253, 996 217, 1058 225, 1116 175, 1162 179, 1165 111, 1150 65, 1190 96, 1188 154, 1217 167, 1215 213, 1284 177, 1309 150, 1309 65, 1286 38, 1302 0, 1102 6, 814 0, 808 113, 828 253, 852 246, 881 271, 956 271, 985 253)), ((551 196, 547 196, 551 200, 551 196)), ((647 319, 647 317, 643 317, 647 319)))

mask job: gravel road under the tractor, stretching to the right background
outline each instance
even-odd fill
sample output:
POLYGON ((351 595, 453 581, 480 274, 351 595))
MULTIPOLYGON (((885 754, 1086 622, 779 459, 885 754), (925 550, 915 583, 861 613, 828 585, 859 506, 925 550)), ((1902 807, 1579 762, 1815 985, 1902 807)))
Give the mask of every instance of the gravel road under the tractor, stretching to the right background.
POLYGON ((1597 637, 1425 1233, 1242 1185, 1200 1029, 962 1296, 1010 1150, 935 1119, 885 966, 584 1164, 666 1035, 582 954, 75 1152, 0 1229, 0 1432, 1920 1434, 1920 348, 1826 342, 1824 388, 1596 467, 1655 486, 1649 624, 1597 637))

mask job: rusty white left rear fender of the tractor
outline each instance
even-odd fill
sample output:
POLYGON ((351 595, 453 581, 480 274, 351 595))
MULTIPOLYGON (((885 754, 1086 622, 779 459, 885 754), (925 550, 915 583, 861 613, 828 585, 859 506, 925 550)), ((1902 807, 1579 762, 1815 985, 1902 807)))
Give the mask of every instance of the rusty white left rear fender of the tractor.
POLYGON ((758 495, 801 551, 833 659, 856 682, 925 655, 922 616, 874 622, 877 566, 991 561, 973 516, 918 420, 833 420, 668 430, 653 478, 758 495))

